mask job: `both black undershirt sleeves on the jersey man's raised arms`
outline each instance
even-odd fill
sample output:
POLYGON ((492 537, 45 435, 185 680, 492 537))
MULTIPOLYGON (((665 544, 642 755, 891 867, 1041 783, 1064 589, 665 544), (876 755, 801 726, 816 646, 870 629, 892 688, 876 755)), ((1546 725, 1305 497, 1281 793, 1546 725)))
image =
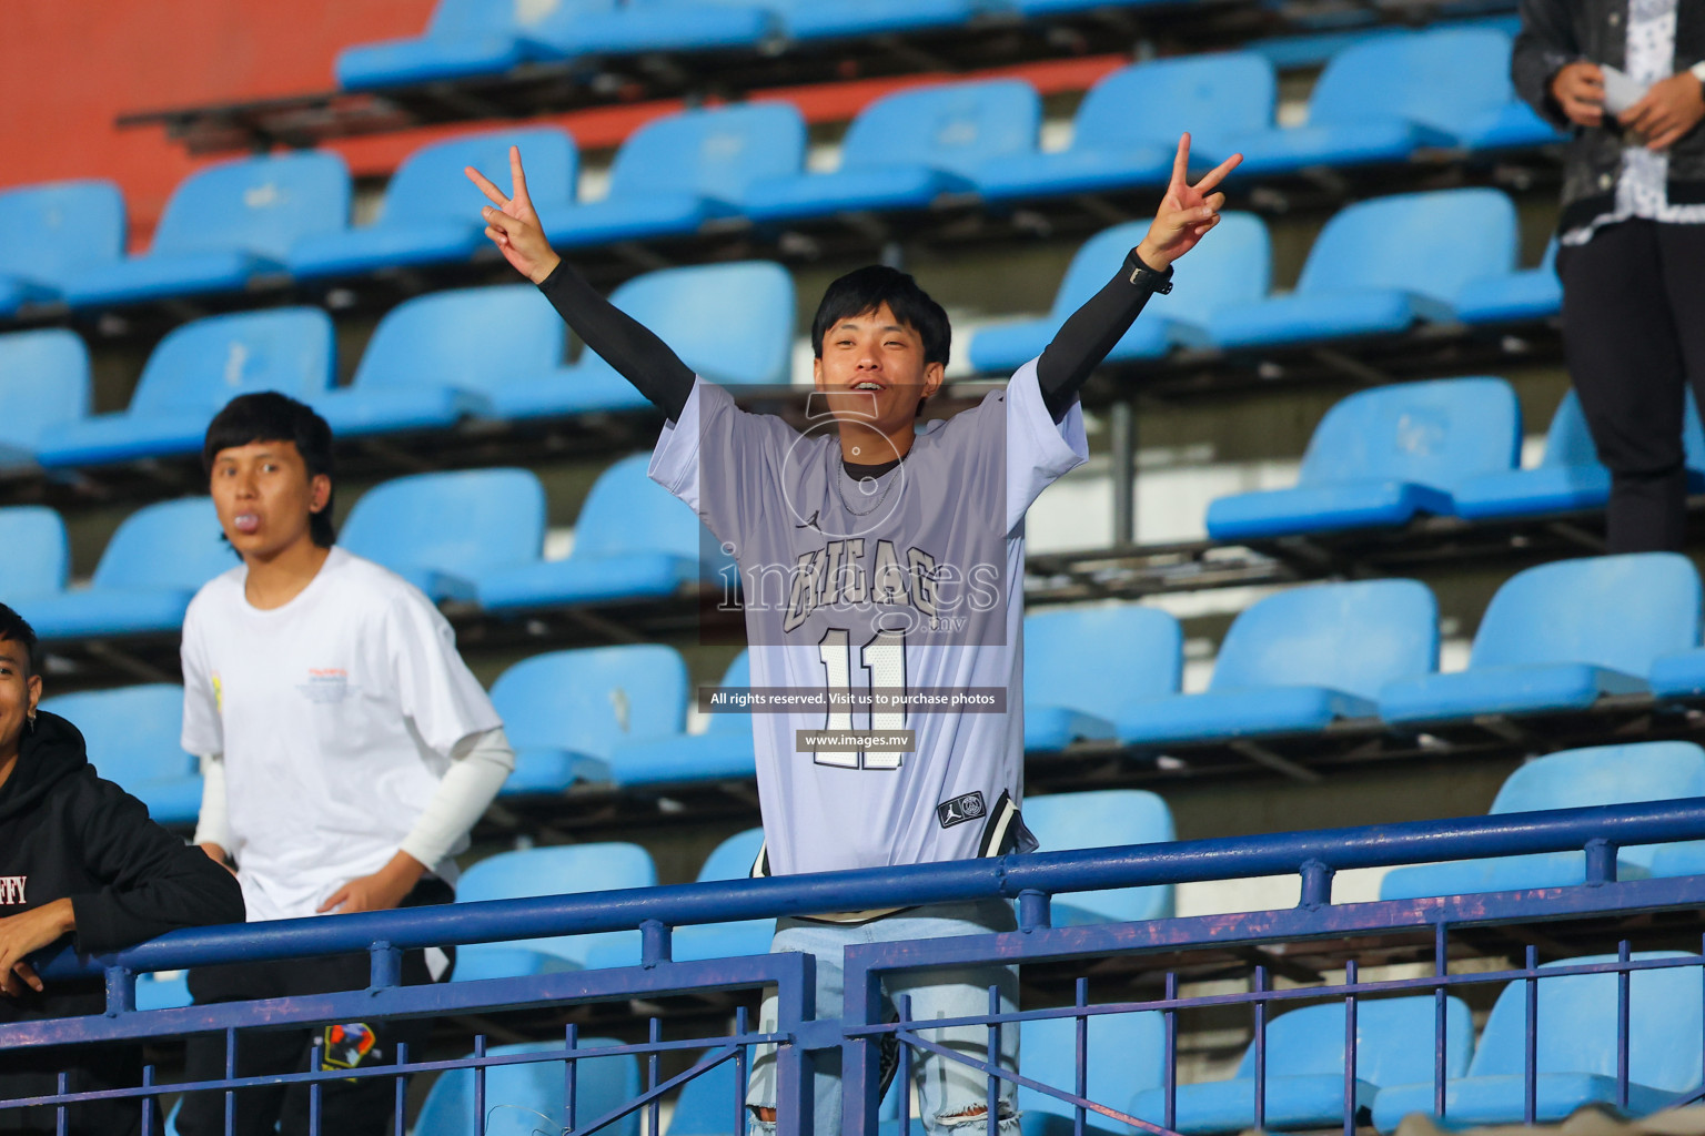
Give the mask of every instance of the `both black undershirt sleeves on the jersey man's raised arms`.
MULTIPOLYGON (((1113 279, 1066 320, 1037 361, 1042 400, 1055 422, 1066 417, 1072 399, 1113 344, 1130 330, 1153 295, 1147 284, 1130 283, 1137 266, 1141 261, 1132 252, 1113 279)), ((1171 276, 1170 269, 1166 276, 1171 276)), ((694 373, 667 342, 605 300, 566 261, 558 262, 539 283, 539 291, 590 351, 600 354, 670 421, 680 419, 692 393, 694 373)))

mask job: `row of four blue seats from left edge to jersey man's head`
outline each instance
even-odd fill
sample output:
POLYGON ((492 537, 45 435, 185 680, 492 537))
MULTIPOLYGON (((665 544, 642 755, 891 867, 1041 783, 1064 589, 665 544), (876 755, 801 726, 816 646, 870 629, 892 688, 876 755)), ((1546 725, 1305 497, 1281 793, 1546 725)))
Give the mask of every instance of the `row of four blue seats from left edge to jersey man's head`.
MULTIPOLYGON (((788 383, 793 278, 769 261, 663 269, 610 296, 721 383, 788 383), (728 296, 743 303, 728 305, 728 296)), ((648 407, 600 356, 564 363, 566 329, 530 284, 438 291, 385 315, 350 387, 321 308, 269 308, 182 324, 143 366, 130 405, 90 416, 89 351, 75 332, 0 336, 0 467, 48 470, 199 453, 230 399, 281 390, 338 438, 520 422, 648 407), (493 336, 493 329, 505 329, 493 336)))

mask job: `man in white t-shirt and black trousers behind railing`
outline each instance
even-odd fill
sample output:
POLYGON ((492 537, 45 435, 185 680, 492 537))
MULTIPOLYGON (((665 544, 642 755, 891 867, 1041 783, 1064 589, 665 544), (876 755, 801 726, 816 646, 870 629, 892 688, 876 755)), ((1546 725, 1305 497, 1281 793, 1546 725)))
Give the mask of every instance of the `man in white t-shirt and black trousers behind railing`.
MULTIPOLYGON (((491 700, 413 584, 334 547, 331 429, 280 393, 234 399, 203 446, 220 526, 242 564, 184 618, 184 749, 206 787, 196 843, 242 884, 249 920, 382 911, 455 898, 454 855, 515 753, 491 700)), ((448 976, 411 950, 402 981, 448 976)), ((367 954, 191 971, 196 1003, 360 990, 367 954)), ((237 1075, 355 1068, 419 1051, 430 1020, 339 1022, 244 1036, 237 1075)), ((225 1075, 220 1036, 193 1037, 191 1080, 225 1075)), ((385 1078, 322 1083, 322 1131, 394 1126, 385 1078)), ((193 1093, 182 1136, 225 1133, 223 1093, 193 1093)), ((235 1093, 235 1136, 307 1131, 305 1085, 235 1093)))

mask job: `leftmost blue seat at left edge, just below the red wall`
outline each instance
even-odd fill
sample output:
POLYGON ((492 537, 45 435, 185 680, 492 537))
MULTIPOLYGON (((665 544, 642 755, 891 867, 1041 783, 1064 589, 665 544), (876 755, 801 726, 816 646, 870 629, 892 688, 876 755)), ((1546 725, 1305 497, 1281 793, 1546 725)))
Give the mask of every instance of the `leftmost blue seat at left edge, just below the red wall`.
POLYGON ((124 255, 124 196, 107 181, 0 192, 0 317, 60 298, 65 281, 124 255))

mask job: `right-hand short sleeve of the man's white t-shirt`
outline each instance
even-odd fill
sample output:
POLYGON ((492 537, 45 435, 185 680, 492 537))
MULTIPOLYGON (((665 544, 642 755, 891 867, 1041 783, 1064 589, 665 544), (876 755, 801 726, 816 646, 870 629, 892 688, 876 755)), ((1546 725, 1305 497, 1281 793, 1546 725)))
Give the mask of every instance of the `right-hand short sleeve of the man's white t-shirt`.
POLYGON ((385 654, 402 712, 421 739, 450 756, 469 734, 503 722, 455 649, 450 622, 416 591, 399 593, 385 620, 385 654))

